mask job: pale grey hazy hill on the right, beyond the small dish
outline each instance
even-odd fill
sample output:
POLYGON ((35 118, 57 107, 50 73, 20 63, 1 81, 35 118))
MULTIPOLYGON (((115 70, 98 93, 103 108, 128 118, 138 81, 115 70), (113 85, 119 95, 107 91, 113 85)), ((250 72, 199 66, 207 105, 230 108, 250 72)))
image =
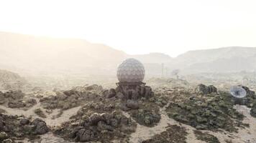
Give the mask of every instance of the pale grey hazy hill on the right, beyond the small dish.
POLYGON ((254 71, 255 61, 256 48, 232 46, 188 51, 175 58, 172 64, 185 73, 232 72, 254 71))

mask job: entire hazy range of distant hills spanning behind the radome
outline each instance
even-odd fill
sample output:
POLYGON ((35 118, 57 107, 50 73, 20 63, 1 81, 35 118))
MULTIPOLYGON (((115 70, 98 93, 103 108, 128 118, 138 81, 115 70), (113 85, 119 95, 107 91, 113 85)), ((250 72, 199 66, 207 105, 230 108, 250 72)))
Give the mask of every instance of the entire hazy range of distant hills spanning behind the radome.
POLYGON ((256 70, 256 48, 225 47, 188 51, 176 58, 167 54, 129 55, 104 44, 83 39, 55 39, 0 32, 0 69, 19 74, 97 74, 114 75, 127 58, 145 64, 147 75, 160 76, 180 69, 183 74, 256 70))

